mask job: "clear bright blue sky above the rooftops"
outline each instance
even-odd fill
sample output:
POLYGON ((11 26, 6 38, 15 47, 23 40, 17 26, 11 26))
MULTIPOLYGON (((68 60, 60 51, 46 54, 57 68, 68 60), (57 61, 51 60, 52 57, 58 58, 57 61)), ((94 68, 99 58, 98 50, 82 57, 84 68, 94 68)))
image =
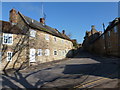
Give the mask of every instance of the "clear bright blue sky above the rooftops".
MULTIPOLYGON (((15 8, 23 15, 39 21, 42 17, 41 2, 2 2, 2 20, 9 21, 9 11, 15 8)), ((82 43, 86 30, 95 25, 96 30, 103 31, 102 24, 118 17, 117 2, 44 2, 46 24, 60 32, 65 30, 71 39, 82 43)))

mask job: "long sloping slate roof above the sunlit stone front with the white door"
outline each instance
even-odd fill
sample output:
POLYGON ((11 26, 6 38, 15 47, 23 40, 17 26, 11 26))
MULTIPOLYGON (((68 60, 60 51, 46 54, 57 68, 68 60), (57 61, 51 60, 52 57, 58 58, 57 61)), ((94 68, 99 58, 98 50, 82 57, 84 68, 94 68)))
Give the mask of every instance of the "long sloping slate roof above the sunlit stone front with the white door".
POLYGON ((38 22, 36 20, 33 20, 33 19, 31 19, 31 18, 29 18, 27 16, 24 16, 20 12, 18 12, 18 14, 22 17, 24 22, 26 24, 28 24, 31 28, 34 28, 34 29, 37 29, 39 31, 43 31, 43 32, 49 33, 51 35, 54 35, 54 36, 57 36, 57 37, 67 39, 67 40, 71 41, 71 39, 67 35, 60 33, 58 30, 56 30, 54 28, 51 28, 51 27, 49 27, 47 25, 43 25, 43 24, 41 24, 40 22, 38 22))

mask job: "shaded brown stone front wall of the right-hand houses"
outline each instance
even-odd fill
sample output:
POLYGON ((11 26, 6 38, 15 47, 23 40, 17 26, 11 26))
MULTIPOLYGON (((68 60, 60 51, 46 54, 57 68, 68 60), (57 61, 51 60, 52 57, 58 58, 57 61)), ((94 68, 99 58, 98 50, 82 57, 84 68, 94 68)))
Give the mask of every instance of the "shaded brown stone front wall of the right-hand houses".
POLYGON ((120 57, 120 23, 109 28, 93 43, 84 42, 83 47, 91 53, 120 57), (115 27, 117 27, 117 31, 115 31, 115 27))

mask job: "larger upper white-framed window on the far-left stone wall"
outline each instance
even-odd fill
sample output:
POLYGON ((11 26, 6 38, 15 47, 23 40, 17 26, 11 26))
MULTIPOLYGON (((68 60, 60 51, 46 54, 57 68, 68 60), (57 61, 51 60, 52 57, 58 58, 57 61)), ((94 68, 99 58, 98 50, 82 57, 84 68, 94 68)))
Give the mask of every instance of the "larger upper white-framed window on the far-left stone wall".
POLYGON ((3 44, 12 45, 13 44, 13 35, 3 33, 3 44))

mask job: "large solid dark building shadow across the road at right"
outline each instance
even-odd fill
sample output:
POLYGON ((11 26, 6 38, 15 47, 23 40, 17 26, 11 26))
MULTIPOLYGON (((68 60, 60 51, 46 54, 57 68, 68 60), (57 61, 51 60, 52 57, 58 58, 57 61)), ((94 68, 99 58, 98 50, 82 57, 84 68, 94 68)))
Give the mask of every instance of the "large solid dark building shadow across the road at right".
POLYGON ((93 55, 82 48, 77 49, 73 54, 73 59, 91 59, 99 63, 66 65, 64 74, 83 74, 120 79, 120 58, 93 55))

